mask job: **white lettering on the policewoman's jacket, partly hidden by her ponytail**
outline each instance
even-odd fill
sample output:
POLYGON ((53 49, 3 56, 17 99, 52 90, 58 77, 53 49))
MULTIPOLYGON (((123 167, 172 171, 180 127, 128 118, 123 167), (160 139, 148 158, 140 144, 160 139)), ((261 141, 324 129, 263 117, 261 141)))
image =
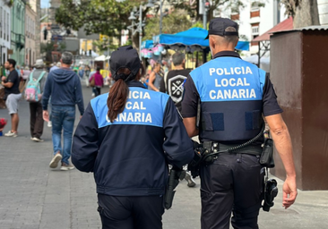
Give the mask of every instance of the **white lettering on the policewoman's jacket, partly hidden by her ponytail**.
MULTIPOLYGON (((125 104, 125 111, 117 115, 116 122, 119 123, 152 123, 151 113, 145 113, 146 107, 142 100, 135 101, 134 99, 151 99, 148 92, 145 91, 131 91, 129 92, 129 99, 125 104), (134 112, 130 112, 134 110, 134 112), (138 112, 140 111, 140 112, 138 112)), ((107 122, 110 120, 106 117, 107 122)))

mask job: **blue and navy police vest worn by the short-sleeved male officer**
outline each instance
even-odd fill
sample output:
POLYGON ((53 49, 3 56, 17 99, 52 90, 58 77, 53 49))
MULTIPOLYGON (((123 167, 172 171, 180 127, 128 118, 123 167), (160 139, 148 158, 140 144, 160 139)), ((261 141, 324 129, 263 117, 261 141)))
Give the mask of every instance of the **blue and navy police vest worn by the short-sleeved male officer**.
POLYGON ((215 58, 190 72, 201 99, 200 139, 254 138, 262 126, 265 72, 240 58, 215 58))

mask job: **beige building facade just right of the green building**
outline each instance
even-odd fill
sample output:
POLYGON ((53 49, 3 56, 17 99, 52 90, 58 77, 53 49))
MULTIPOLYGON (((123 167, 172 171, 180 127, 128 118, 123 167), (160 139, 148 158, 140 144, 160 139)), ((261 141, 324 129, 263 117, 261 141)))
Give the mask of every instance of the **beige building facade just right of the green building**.
POLYGON ((25 65, 31 66, 36 61, 37 13, 28 4, 25 9, 25 65))

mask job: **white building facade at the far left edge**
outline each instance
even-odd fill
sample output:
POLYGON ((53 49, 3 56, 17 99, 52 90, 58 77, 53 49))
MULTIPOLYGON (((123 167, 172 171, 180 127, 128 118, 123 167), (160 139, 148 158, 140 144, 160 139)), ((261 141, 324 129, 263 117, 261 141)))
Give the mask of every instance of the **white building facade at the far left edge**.
POLYGON ((11 1, 0 0, 0 65, 8 59, 11 48, 11 1))

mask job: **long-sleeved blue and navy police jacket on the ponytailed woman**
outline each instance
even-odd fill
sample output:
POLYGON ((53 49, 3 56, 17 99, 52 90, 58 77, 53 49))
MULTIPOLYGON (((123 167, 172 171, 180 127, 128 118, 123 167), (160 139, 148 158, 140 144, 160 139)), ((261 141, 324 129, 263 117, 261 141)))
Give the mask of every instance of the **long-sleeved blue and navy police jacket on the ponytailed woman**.
POLYGON ((72 162, 94 173, 98 193, 162 195, 168 164, 190 162, 193 144, 168 95, 144 89, 137 81, 128 86, 125 110, 113 123, 108 120, 108 93, 91 100, 73 136, 72 162))

